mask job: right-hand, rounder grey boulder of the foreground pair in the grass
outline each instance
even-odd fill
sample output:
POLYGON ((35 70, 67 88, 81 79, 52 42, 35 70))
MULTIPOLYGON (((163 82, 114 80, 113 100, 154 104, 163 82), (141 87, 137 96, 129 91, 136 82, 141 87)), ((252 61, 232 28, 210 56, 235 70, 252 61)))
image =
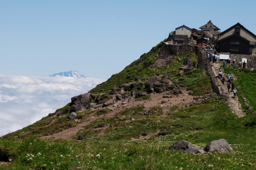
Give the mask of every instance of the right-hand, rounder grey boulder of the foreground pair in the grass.
POLYGON ((204 150, 205 152, 212 152, 214 150, 217 150, 220 153, 236 153, 235 150, 230 147, 225 139, 212 140, 212 142, 209 142, 209 144, 207 144, 204 150))

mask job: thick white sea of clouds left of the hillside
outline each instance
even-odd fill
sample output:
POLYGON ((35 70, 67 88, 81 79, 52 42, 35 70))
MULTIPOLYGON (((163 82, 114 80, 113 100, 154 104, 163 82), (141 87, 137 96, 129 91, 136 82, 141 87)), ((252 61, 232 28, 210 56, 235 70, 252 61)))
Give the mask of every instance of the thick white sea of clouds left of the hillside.
POLYGON ((0 137, 37 122, 105 80, 0 74, 0 137))

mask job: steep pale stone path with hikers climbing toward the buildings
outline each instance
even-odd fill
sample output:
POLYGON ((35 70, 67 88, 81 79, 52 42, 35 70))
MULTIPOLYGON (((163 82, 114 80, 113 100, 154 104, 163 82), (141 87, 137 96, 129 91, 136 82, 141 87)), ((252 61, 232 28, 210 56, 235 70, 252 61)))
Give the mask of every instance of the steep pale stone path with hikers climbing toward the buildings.
MULTIPOLYGON (((212 70, 214 71, 216 79, 218 79, 217 76, 219 75, 219 68, 221 67, 221 64, 214 63, 212 65, 213 65, 212 70)), ((245 113, 243 113, 243 110, 241 107, 241 103, 238 101, 238 96, 235 96, 234 98, 233 92, 228 92, 228 87, 227 87, 228 75, 222 72, 222 76, 226 78, 226 81, 224 82, 224 84, 222 84, 221 80, 218 79, 217 81, 219 82, 218 88, 221 94, 226 97, 226 100, 228 101, 229 109, 232 110, 233 113, 235 113, 239 118, 245 116, 245 113)), ((235 75, 233 75, 233 79, 234 80, 236 79, 235 75)))

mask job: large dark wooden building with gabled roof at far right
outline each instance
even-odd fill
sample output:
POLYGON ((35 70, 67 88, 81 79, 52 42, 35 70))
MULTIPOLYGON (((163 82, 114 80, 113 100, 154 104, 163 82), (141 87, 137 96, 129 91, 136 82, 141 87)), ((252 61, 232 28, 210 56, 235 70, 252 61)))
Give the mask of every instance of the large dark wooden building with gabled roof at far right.
POLYGON ((256 54, 256 35, 237 23, 219 34, 219 52, 256 54))

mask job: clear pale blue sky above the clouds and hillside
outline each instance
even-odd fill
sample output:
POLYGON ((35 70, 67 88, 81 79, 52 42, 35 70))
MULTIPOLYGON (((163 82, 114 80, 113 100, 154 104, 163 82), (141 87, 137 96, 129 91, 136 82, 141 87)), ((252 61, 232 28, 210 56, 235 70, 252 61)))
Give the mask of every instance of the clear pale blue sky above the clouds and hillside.
POLYGON ((1 1, 0 74, 46 76, 75 70, 107 79, 176 27, 211 20, 256 34, 256 1, 1 1))

